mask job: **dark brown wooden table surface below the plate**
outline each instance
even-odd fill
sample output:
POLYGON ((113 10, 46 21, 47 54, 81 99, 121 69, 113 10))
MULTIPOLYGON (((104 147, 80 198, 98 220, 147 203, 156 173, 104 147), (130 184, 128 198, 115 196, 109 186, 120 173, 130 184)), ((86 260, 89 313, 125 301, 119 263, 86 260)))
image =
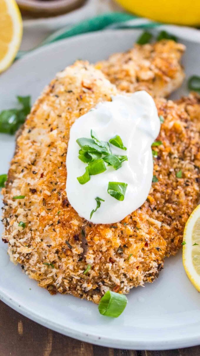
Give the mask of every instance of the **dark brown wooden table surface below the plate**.
POLYGON ((131 351, 91 345, 44 328, 0 301, 0 356, 200 356, 200 346, 131 351))

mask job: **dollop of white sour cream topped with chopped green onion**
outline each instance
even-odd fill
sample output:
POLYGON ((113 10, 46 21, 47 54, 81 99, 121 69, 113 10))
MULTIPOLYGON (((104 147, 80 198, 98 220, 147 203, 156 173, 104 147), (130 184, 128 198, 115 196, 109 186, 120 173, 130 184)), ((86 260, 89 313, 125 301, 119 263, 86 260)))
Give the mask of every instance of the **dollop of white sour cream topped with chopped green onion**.
POLYGON ((96 105, 87 114, 80 116, 70 129, 67 151, 66 192, 69 203, 79 216, 94 224, 113 224, 124 219, 139 208, 147 199, 153 178, 153 157, 151 145, 160 131, 160 120, 156 105, 146 91, 137 91, 131 95, 116 95, 112 101, 96 105), (89 182, 80 184, 77 177, 85 173, 86 163, 78 158, 79 149, 76 140, 91 138, 94 130, 101 141, 119 135, 124 151, 110 144, 114 155, 127 155, 128 161, 115 170, 106 165, 106 171, 91 176, 89 182), (107 193, 109 182, 127 183, 123 201, 107 193), (96 208, 95 198, 99 197, 101 206, 96 208))

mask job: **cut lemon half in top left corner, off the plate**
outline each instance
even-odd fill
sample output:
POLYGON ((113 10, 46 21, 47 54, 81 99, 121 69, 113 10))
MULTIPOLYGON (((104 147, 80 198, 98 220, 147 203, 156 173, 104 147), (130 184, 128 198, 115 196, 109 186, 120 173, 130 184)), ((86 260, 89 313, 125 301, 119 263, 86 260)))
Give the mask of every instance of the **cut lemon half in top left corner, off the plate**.
POLYGON ((22 18, 15 0, 0 0, 0 73, 14 61, 22 38, 22 18))

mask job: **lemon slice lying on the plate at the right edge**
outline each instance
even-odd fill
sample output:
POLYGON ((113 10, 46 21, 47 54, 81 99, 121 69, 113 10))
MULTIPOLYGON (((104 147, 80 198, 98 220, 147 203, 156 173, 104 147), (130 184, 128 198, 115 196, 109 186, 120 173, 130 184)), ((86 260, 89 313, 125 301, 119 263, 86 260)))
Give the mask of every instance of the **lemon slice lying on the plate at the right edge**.
POLYGON ((185 272, 200 292, 200 204, 191 213, 185 225, 182 245, 185 272))

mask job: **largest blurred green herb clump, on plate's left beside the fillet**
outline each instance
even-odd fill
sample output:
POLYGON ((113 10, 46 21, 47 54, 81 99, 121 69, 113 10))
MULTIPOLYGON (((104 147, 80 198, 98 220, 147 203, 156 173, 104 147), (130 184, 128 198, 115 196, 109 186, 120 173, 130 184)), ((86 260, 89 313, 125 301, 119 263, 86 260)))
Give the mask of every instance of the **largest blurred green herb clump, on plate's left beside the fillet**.
POLYGON ((0 132, 13 135, 30 113, 30 96, 17 96, 22 109, 9 109, 0 112, 0 132))

